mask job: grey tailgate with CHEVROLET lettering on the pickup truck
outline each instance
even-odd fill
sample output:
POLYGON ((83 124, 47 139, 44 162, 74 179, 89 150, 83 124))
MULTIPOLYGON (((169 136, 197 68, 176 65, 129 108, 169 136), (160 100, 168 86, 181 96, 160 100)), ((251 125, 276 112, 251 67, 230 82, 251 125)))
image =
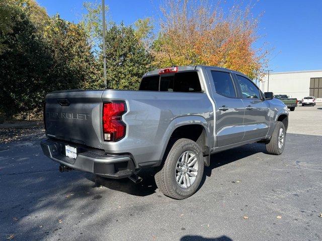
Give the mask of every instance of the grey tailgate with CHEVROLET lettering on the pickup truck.
POLYGON ((103 149, 103 90, 56 91, 46 95, 46 136, 103 149))

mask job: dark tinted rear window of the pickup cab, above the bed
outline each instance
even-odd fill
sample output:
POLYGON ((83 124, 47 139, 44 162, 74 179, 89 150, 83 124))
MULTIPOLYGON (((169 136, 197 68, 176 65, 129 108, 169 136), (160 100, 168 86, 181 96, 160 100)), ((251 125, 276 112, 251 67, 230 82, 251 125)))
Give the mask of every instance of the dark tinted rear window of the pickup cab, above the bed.
MULTIPOLYGON (((158 84, 157 84, 158 85, 158 84)), ((196 71, 179 72, 172 75, 156 75, 143 77, 139 90, 168 91, 168 92, 201 92, 201 85, 196 71), (154 77, 154 78, 151 78, 154 77), (160 89, 149 81, 160 81, 160 89), (153 87, 153 88, 151 88, 153 87), (146 89, 149 88, 149 89, 146 89)))

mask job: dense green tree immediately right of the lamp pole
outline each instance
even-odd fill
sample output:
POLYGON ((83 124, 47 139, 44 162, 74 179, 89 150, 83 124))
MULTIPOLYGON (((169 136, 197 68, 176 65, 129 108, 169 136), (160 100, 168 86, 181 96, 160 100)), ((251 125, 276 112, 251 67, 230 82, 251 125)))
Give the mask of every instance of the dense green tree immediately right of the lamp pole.
MULTIPOLYGON (((102 56, 100 58, 103 59, 102 56)), ((135 36, 132 26, 113 24, 106 32, 108 87, 138 89, 142 75, 150 70, 152 56, 135 36)))

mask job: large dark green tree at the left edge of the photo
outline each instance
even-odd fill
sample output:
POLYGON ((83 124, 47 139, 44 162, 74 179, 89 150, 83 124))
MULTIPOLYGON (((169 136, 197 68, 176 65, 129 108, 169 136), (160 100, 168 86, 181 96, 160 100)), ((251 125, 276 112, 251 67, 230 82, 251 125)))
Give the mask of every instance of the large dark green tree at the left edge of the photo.
POLYGON ((11 118, 41 105, 51 56, 24 10, 8 7, 12 30, 1 33, 7 49, 0 54, 0 110, 11 118))

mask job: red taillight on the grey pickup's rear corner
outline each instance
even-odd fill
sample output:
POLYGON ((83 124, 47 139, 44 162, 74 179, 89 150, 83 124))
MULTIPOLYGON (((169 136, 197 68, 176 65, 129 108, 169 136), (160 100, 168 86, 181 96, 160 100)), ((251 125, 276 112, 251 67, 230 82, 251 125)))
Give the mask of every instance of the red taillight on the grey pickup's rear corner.
POLYGON ((125 102, 115 101, 103 104, 103 134, 105 141, 118 141, 125 136, 126 125, 122 122, 122 114, 125 112, 125 102))

